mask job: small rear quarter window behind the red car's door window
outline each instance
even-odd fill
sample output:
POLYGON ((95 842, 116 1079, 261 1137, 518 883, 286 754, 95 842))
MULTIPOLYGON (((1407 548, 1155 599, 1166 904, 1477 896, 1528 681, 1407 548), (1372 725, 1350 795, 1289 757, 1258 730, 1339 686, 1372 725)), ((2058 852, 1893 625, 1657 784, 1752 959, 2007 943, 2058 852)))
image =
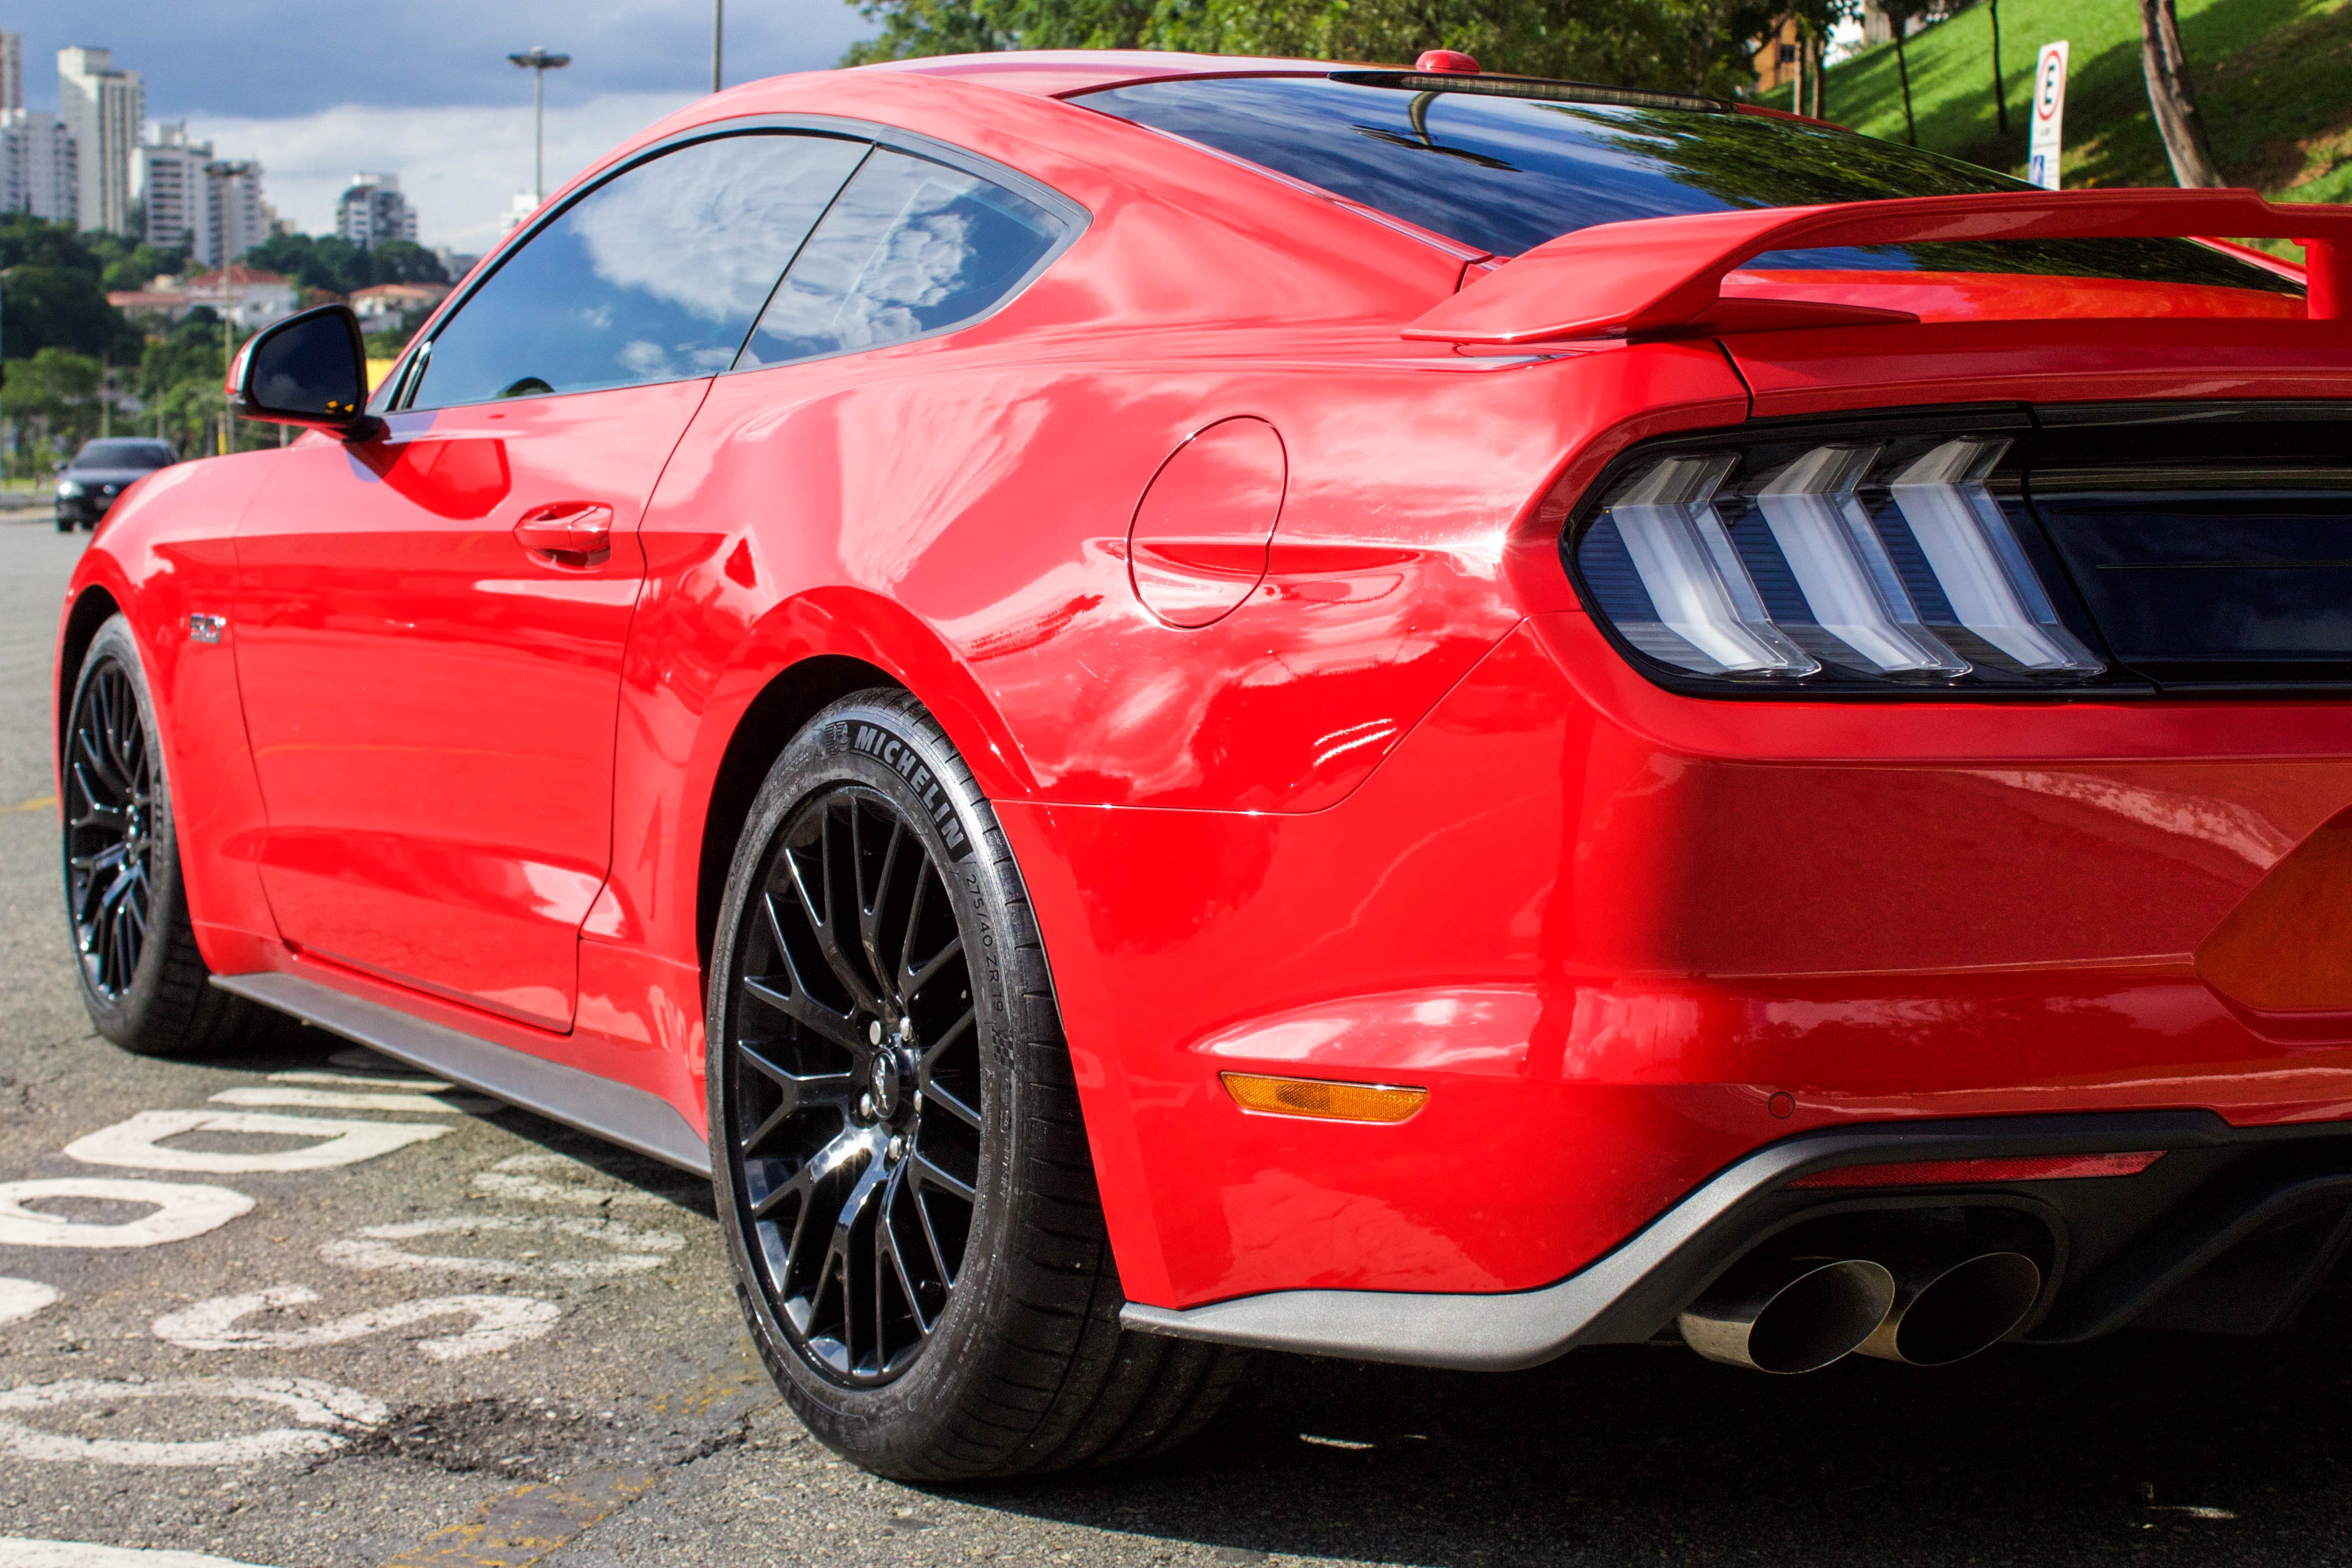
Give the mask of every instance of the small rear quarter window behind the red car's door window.
POLYGON ((969 322, 1028 282, 1061 237, 1061 219, 1028 197, 875 150, 793 261, 736 369, 969 322))

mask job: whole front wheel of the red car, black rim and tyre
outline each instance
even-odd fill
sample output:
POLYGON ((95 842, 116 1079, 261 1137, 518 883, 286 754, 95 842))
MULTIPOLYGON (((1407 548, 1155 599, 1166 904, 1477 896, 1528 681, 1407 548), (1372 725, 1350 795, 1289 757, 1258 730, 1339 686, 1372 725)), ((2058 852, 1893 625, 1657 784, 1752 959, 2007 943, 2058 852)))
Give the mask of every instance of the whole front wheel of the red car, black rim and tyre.
POLYGON ((66 919, 99 1034, 141 1056, 207 1056, 275 1030, 275 1013, 214 990, 195 950, 155 703, 122 616, 82 656, 59 771, 66 919))

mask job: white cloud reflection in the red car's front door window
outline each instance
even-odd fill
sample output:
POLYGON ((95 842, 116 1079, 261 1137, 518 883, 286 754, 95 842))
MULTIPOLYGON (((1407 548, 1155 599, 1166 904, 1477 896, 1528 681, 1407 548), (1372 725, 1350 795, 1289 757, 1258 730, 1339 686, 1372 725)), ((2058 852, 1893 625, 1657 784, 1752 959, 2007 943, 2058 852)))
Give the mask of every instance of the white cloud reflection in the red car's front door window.
POLYGON ((757 169, 684 148, 581 202, 569 221, 595 275, 703 322, 748 322, 840 188, 849 146, 814 136, 746 141, 757 143, 757 169), (680 249, 687 237, 691 254, 680 249))

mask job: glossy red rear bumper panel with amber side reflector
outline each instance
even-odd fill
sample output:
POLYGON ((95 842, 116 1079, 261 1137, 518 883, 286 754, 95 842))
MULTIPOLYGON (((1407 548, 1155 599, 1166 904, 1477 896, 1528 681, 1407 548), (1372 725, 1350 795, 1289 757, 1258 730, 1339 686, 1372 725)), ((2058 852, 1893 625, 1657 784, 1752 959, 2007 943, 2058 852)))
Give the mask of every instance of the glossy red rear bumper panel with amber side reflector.
POLYGON ((2345 703, 1703 701, 1581 614, 1505 637, 1324 811, 1000 802, 1122 1286, 1225 1321, 1566 1288, 1799 1133, 2352 1119, 2340 910, 2265 926, 2256 1001, 2293 1018, 2199 971, 2347 809, 2345 703), (1254 1117, 1218 1070, 1430 1098, 1254 1117))

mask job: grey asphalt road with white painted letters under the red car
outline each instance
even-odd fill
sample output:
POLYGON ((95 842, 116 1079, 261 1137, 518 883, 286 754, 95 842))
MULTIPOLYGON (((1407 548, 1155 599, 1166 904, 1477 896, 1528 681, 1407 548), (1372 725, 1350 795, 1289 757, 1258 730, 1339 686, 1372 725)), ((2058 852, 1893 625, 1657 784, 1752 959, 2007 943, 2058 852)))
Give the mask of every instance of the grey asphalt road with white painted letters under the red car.
POLYGON ((80 548, 0 524, 0 1568, 2352 1556, 2340 1300, 2277 1340, 2126 1335, 1938 1373, 1776 1380, 1663 1347, 1515 1378, 1268 1356, 1160 1462, 863 1476, 750 1359, 694 1182, 383 1081, 402 1074, 320 1034, 205 1065, 92 1034, 45 738, 80 548), (285 1168, 322 1131, 238 1117, 346 1124, 325 1131, 365 1157, 285 1168))

